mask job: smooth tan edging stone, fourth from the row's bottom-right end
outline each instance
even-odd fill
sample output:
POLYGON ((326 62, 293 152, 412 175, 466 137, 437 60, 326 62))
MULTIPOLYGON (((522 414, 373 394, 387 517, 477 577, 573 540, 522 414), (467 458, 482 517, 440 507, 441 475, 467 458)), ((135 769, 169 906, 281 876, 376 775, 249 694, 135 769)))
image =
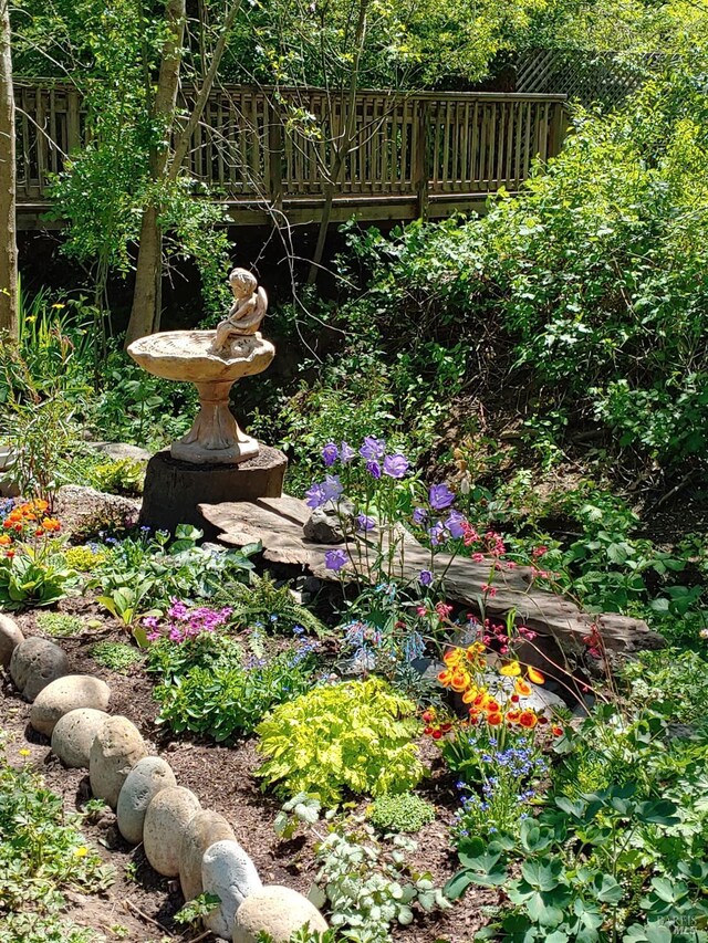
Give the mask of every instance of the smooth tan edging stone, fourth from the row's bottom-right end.
POLYGON ((179 849, 190 819, 201 808, 191 789, 170 786, 153 798, 143 825, 143 847, 153 868, 166 878, 179 873, 179 849))

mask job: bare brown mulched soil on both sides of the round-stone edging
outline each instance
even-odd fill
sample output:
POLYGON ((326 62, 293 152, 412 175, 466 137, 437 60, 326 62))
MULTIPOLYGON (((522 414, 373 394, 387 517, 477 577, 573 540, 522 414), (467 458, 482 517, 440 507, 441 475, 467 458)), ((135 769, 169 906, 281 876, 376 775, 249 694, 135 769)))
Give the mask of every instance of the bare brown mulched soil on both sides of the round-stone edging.
MULTIPOLYGON (((91 598, 67 599, 60 611, 96 619, 100 615, 91 598)), ((231 822, 237 839, 253 859, 263 883, 282 883, 308 894, 316 867, 313 862, 313 839, 295 837, 283 842, 273 831, 279 804, 264 795, 253 776, 258 766, 254 741, 233 746, 175 738, 156 726, 157 704, 153 700, 153 682, 138 667, 129 674, 115 673, 97 664, 90 656, 96 641, 126 641, 125 631, 112 619, 101 615, 100 629, 86 629, 80 637, 54 639, 66 651, 72 671, 92 673, 108 683, 113 698, 111 711, 129 717, 145 737, 150 752, 163 755, 173 767, 180 785, 192 789, 204 808, 221 813, 231 822)), ((35 614, 18 617, 25 636, 41 635, 35 614)), ((49 740, 29 726, 30 705, 24 703, 11 681, 2 678, 0 724, 10 734, 8 758, 14 765, 29 763, 40 772, 46 785, 64 799, 65 808, 75 810, 91 797, 85 771, 65 769, 51 753, 49 740), (29 750, 22 756, 20 750, 29 750)), ((449 777, 428 742, 421 743, 424 758, 433 765, 433 776, 424 782, 420 792, 438 809, 436 821, 417 836, 418 850, 410 856, 410 866, 419 872, 430 871, 438 884, 444 884, 456 871, 456 858, 450 849, 447 829, 452 819, 449 777)), ((142 850, 128 846, 121 837, 115 815, 107 807, 97 820, 87 821, 84 834, 96 846, 116 872, 115 883, 102 895, 84 897, 71 893, 69 915, 80 925, 104 933, 107 940, 160 941, 164 936, 196 939, 210 943, 216 937, 189 931, 180 936, 181 928, 174 922, 183 905, 179 881, 163 878, 147 863, 142 850), (127 868, 127 871, 126 871, 127 868), (125 928, 125 931, 112 928, 125 928)), ((496 892, 471 890, 450 911, 426 915, 416 914, 410 926, 393 929, 400 943, 470 943, 482 923, 482 908, 496 901, 496 892)))

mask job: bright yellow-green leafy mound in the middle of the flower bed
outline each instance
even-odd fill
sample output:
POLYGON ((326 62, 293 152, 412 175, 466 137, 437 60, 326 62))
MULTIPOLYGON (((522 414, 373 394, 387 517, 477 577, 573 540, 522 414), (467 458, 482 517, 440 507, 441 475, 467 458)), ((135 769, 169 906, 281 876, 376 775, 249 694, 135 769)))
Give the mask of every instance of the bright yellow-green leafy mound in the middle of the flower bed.
POLYGON ((376 678, 321 685, 259 724, 266 762, 258 775, 280 795, 308 793, 325 807, 346 790, 404 793, 424 774, 415 713, 413 701, 376 678))

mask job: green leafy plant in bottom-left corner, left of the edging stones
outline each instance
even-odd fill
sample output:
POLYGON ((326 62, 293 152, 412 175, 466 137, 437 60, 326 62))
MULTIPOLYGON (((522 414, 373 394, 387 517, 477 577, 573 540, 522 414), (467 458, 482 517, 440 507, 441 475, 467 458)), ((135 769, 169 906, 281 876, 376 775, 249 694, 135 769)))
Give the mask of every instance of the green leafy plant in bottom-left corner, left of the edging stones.
POLYGON ((4 758, 0 741, 0 941, 88 943, 95 934, 62 918, 64 892, 105 889, 113 873, 84 841, 80 816, 39 776, 4 758))

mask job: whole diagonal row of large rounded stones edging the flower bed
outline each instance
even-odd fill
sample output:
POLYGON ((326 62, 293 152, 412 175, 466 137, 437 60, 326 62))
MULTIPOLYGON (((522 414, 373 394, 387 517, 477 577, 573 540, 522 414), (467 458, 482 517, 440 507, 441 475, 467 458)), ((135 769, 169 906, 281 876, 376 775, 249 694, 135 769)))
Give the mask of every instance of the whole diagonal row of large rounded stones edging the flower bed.
POLYGON ((320 911, 292 888, 263 886, 229 822, 202 809, 197 796, 177 784, 169 764, 149 756, 137 727, 107 713, 108 685, 91 674, 72 674, 55 642, 24 638, 13 619, 0 614, 0 664, 22 696, 32 702, 30 724, 51 736, 65 766, 88 769, 91 790, 116 810, 118 830, 132 845, 143 842, 150 866, 179 877, 185 900, 202 892, 221 903, 204 919, 216 936, 256 943, 268 933, 288 943, 309 924, 324 932, 320 911))

